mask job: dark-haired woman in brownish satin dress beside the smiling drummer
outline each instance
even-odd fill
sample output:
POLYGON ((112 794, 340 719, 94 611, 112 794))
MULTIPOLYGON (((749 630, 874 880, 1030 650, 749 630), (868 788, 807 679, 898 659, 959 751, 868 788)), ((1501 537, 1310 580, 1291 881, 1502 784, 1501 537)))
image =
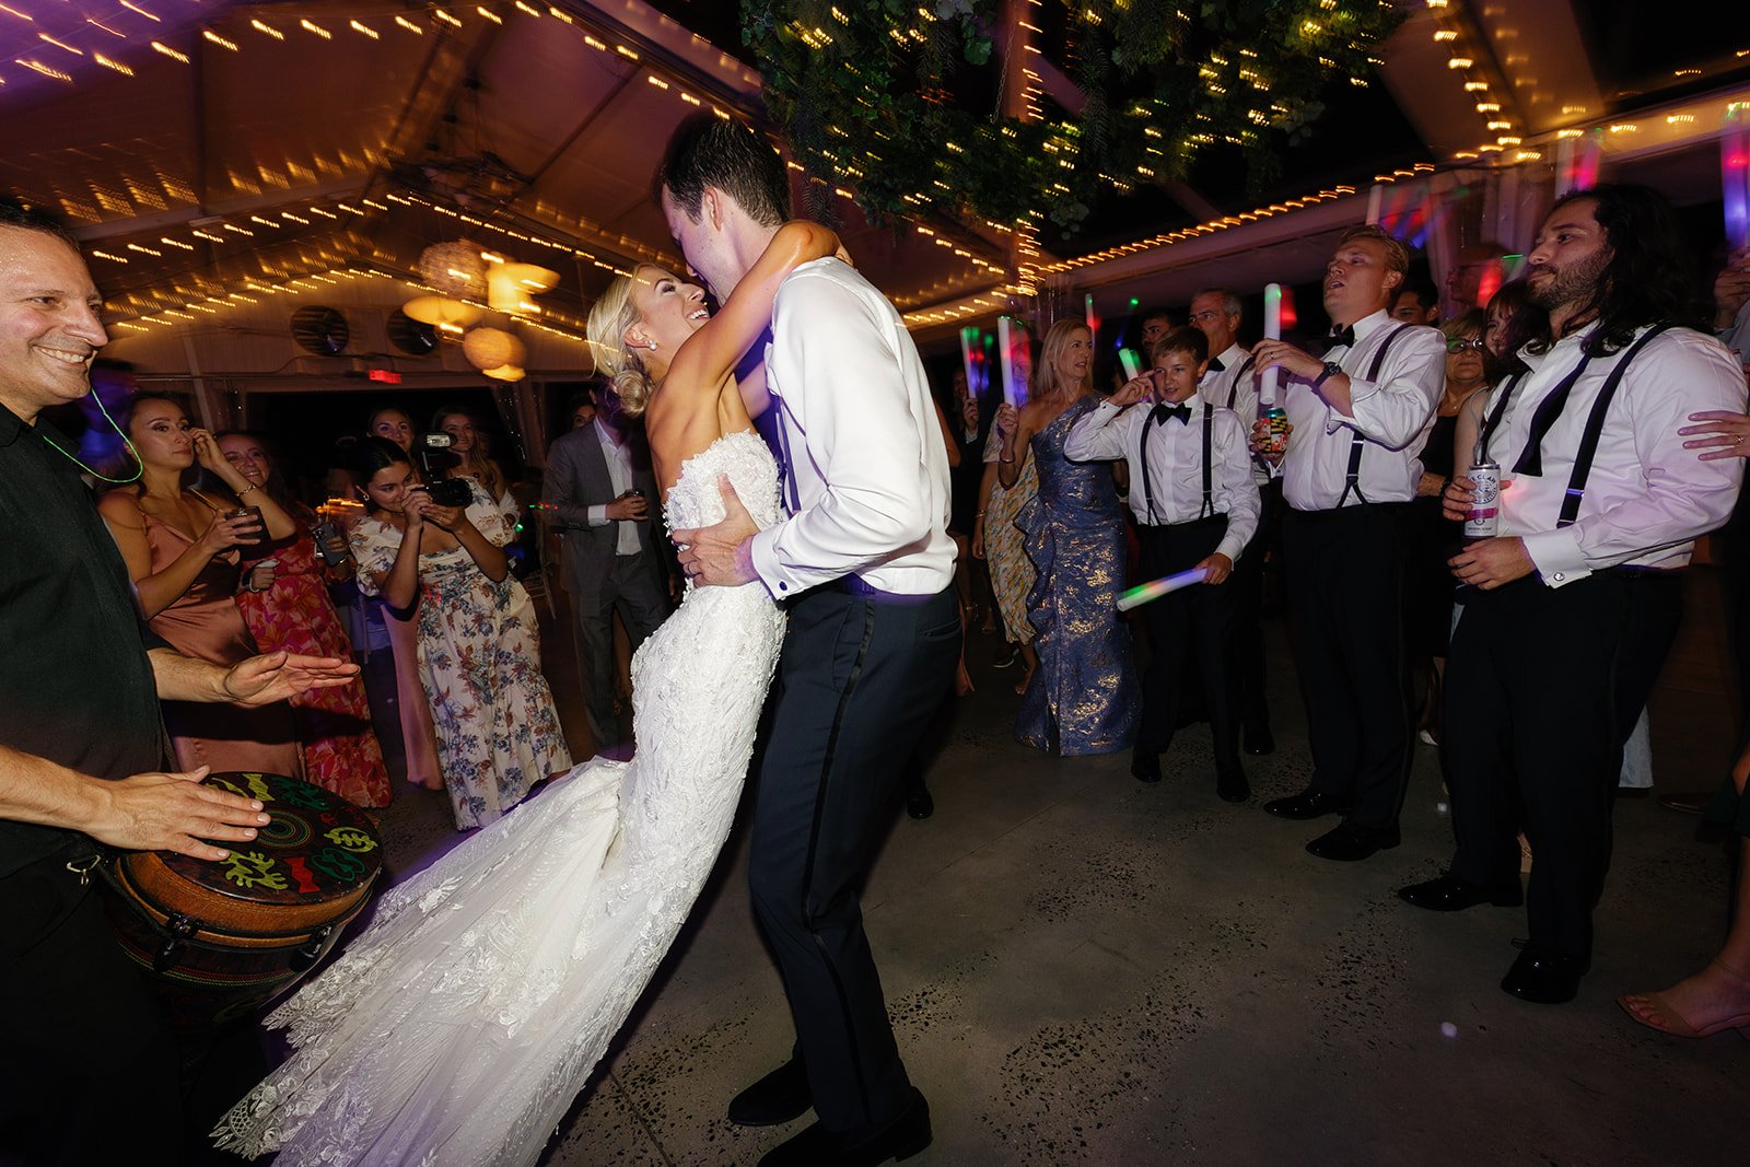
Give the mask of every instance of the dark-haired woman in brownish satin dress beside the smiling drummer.
MULTIPOLYGON (((191 425, 175 397, 135 394, 119 423, 138 453, 140 481, 103 495, 98 513, 121 548, 152 632, 178 653, 215 665, 254 656, 256 642, 234 600, 242 549, 262 537, 290 535, 292 518, 224 460, 214 436, 191 425), (196 462, 224 493, 184 486, 196 462)), ((262 709, 164 702, 164 724, 180 770, 303 777, 285 702, 262 709)))

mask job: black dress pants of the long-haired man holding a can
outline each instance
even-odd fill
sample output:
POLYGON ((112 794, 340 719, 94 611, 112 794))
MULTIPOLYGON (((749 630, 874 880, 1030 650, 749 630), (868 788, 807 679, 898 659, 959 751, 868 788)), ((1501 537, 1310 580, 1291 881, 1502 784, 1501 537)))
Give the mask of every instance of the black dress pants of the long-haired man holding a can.
POLYGON ((1458 852, 1472 884, 1519 878, 1514 815, 1531 842, 1531 945, 1589 959, 1610 868, 1622 744, 1682 616, 1676 572, 1535 576, 1465 597, 1446 672, 1442 744, 1458 852), (1522 812, 1521 812, 1522 803, 1522 812))

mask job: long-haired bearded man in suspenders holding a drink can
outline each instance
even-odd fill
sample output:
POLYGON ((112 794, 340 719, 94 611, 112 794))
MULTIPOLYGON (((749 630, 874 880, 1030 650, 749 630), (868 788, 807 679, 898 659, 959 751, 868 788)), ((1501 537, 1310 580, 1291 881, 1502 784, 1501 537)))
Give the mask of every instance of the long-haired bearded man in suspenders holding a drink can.
MULTIPOLYGON (((1591 962, 1622 744, 1676 632, 1678 570, 1726 521, 1743 474, 1740 458, 1682 448, 1690 413, 1745 408, 1726 346, 1673 327, 1690 299, 1685 254, 1671 208, 1645 187, 1556 203, 1528 259, 1547 331, 1484 422, 1508 479, 1500 534, 1451 560, 1470 590, 1446 681, 1458 852, 1447 875, 1402 894, 1437 912, 1517 905, 1519 849, 1502 829, 1517 794, 1535 856, 1531 940, 1502 989, 1524 1001, 1573 999, 1591 962)), ((1447 490, 1447 518, 1463 516, 1470 486, 1447 490)))

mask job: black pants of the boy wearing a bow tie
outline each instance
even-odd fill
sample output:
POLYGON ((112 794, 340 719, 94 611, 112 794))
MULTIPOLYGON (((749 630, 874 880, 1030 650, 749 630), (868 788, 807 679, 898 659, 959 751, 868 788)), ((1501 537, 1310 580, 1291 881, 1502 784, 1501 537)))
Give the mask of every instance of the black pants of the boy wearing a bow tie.
MULTIPOLYGON (((1171 527, 1139 527, 1143 579, 1160 579, 1195 567, 1227 534, 1227 516, 1194 520, 1171 527)), ((1143 675, 1143 723, 1136 733, 1138 754, 1162 754, 1172 744, 1180 714, 1180 682, 1186 672, 1202 681, 1204 707, 1214 735, 1216 766, 1239 765, 1239 719, 1236 717, 1230 651, 1236 593, 1232 576, 1220 584, 1192 584, 1143 607, 1148 621, 1148 672, 1143 675)))

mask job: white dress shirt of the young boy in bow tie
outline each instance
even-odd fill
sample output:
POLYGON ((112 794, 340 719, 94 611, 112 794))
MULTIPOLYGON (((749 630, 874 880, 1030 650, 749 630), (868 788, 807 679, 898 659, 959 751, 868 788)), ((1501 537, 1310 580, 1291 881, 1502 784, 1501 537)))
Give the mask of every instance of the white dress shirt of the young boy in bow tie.
MULTIPOLYGON (((1076 462, 1124 458, 1130 467, 1130 513, 1138 523, 1188 523, 1202 516, 1202 408, 1195 395, 1186 402, 1190 420, 1153 422, 1153 399, 1120 409, 1110 401, 1069 427, 1064 457, 1076 462), (1143 467, 1143 429, 1148 434, 1148 467, 1143 467), (1146 476, 1146 478, 1144 478, 1146 476), (1148 483, 1146 490, 1143 483, 1148 483), (1148 516, 1148 500, 1155 516, 1148 516)), ((1216 551, 1232 562, 1258 530, 1258 485, 1251 476, 1248 429, 1232 409, 1216 408, 1209 420, 1209 500, 1227 514, 1227 534, 1216 551)))

